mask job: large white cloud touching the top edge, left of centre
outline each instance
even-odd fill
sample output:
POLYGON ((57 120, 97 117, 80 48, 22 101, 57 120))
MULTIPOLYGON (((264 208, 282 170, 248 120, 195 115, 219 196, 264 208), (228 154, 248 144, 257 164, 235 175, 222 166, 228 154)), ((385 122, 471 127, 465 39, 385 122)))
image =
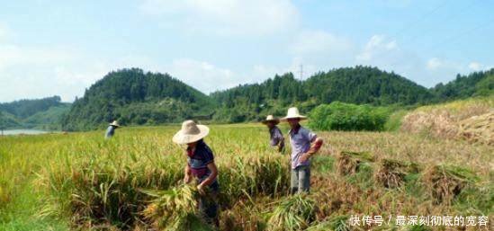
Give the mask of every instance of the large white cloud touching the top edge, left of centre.
POLYGON ((265 35, 296 28, 299 12, 289 0, 146 0, 143 13, 166 26, 220 35, 265 35))

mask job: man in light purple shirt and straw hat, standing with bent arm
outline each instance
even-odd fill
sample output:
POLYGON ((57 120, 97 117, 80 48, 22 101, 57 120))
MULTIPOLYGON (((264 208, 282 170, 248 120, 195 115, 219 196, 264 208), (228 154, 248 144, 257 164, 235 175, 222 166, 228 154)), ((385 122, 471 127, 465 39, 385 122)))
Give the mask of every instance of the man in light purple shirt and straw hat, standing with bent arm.
POLYGON ((282 120, 290 124, 290 144, 292 145, 292 194, 310 191, 310 157, 319 151, 322 139, 309 129, 301 127, 300 121, 306 120, 297 108, 290 108, 282 120))

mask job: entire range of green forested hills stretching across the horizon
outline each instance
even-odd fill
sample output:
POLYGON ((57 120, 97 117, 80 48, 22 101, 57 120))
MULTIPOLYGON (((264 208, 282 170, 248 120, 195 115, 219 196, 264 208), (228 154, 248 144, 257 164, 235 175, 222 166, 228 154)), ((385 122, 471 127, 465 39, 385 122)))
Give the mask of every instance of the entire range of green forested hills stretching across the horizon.
POLYGON ((492 93, 494 69, 458 75, 427 89, 376 67, 345 67, 304 81, 291 73, 276 75, 260 84, 242 84, 208 96, 167 74, 131 68, 110 72, 72 105, 60 102, 58 96, 0 103, 0 127, 85 130, 103 129, 112 120, 123 125, 185 119, 243 122, 262 120, 267 114, 283 116, 293 105, 307 113, 320 103, 336 101, 415 105, 492 93))

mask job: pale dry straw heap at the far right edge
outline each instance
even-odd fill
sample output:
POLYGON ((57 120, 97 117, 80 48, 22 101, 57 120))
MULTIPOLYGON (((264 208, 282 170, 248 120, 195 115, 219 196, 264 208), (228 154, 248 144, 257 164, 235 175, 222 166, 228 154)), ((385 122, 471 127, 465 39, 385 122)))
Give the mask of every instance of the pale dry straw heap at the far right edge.
POLYGON ((459 122, 458 137, 472 143, 494 145, 494 111, 459 122))

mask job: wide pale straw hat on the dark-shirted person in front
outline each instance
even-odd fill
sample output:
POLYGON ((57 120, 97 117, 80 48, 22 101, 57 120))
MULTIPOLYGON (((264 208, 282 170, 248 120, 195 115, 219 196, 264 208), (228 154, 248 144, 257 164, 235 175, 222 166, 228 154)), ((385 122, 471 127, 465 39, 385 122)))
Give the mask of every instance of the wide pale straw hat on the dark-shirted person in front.
POLYGON ((179 145, 195 142, 208 135, 210 128, 204 125, 197 125, 193 120, 185 120, 182 129, 175 133, 173 141, 179 145))

